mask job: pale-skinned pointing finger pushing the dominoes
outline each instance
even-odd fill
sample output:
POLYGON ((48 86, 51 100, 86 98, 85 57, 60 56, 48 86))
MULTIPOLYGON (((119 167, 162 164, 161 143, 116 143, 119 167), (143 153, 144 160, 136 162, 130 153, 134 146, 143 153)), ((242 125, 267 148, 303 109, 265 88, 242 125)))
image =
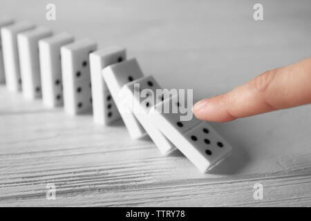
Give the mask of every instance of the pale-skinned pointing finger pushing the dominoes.
POLYGON ((311 57, 268 70, 229 93, 202 99, 194 115, 209 122, 229 122, 311 103, 311 57))

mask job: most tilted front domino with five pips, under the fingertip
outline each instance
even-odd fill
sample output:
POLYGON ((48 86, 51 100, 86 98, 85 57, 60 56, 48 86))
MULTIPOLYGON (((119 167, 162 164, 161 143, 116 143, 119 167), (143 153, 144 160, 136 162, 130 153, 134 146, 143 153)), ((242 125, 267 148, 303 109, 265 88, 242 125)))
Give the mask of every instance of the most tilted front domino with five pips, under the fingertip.
POLYGON ((184 102, 175 96, 154 106, 149 119, 202 173, 229 155, 231 146, 207 122, 195 117, 181 121, 180 113, 161 113, 162 106, 169 105, 185 111, 184 102))

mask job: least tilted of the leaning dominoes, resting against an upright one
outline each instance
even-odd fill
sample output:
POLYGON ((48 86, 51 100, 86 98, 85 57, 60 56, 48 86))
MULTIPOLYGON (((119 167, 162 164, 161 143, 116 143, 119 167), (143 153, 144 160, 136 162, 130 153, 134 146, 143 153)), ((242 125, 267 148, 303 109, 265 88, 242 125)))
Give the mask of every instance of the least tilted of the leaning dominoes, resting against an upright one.
POLYGON ((117 109, 123 119, 123 122, 133 139, 138 139, 146 135, 146 131, 142 128, 138 119, 122 104, 119 93, 124 84, 142 77, 142 70, 136 59, 129 59, 121 63, 107 66, 102 70, 102 76, 106 81, 110 93, 117 105, 117 109))

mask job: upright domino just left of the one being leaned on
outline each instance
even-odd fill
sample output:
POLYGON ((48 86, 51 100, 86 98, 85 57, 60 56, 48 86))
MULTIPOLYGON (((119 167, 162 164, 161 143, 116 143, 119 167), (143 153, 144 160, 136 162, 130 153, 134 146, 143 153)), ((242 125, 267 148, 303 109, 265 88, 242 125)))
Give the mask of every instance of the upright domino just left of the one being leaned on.
POLYGON ((96 50, 96 43, 82 39, 62 46, 62 79, 66 113, 77 115, 91 110, 91 77, 89 54, 96 50))

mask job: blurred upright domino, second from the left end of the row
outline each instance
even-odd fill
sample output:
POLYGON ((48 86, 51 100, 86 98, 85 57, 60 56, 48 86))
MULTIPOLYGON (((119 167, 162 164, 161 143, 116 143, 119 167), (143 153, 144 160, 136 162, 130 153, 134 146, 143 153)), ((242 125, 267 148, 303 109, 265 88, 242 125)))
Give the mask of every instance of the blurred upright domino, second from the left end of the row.
POLYGON ((28 21, 1 28, 4 73, 6 75, 6 86, 10 91, 21 90, 17 34, 32 28, 35 28, 35 26, 28 21))

